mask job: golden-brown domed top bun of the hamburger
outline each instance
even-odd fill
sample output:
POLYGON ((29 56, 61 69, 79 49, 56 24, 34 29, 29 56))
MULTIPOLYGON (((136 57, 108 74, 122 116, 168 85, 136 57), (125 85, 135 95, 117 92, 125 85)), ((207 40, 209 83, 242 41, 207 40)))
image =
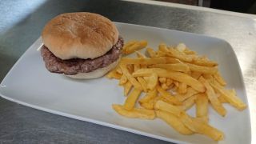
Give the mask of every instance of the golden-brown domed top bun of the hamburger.
POLYGON ((58 58, 97 58, 118 42, 110 19, 86 12, 60 14, 42 30, 42 42, 58 58))

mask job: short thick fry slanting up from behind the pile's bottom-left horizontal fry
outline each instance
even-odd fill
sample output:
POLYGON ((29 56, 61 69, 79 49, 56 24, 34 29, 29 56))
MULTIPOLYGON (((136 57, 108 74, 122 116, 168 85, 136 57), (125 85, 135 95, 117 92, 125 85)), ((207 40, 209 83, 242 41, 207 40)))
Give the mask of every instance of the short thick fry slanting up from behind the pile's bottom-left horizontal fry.
POLYGON ((139 97, 139 95, 142 93, 142 90, 138 90, 138 89, 134 89, 130 95, 128 96, 128 98, 126 98, 126 102, 123 105, 123 107, 126 110, 132 110, 135 106, 135 103, 139 97))

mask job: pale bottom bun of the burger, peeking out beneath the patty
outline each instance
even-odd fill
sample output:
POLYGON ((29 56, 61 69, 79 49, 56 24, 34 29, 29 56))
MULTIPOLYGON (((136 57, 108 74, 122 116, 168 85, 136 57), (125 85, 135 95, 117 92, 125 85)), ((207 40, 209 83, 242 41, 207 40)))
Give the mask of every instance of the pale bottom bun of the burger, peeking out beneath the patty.
POLYGON ((115 66, 118 65, 119 59, 113 63, 111 63, 109 66, 106 67, 102 67, 100 69, 91 71, 89 73, 78 73, 78 74, 74 74, 74 75, 68 75, 65 74, 67 77, 70 78, 76 78, 76 79, 91 79, 91 78, 99 78, 102 77, 103 75, 105 75, 107 72, 109 72, 110 70, 114 69, 115 66))

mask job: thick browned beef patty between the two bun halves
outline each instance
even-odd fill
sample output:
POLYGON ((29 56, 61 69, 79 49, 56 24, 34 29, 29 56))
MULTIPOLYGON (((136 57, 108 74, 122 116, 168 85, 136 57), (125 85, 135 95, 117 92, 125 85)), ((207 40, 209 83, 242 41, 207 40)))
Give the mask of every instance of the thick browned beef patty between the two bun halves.
POLYGON ((62 60, 57 58, 46 46, 42 46, 41 55, 46 63, 46 69, 52 73, 74 75, 78 73, 88 73, 98 68, 109 66, 118 60, 122 46, 123 38, 119 36, 118 42, 106 54, 94 59, 72 58, 62 60))

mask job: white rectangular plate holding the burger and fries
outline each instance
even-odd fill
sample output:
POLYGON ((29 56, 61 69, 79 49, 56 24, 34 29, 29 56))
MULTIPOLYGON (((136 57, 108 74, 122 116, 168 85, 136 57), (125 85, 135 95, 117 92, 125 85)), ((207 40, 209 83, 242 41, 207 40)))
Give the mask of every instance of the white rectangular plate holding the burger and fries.
MULTIPOLYGON (((219 69, 228 87, 237 90, 238 96, 247 103, 241 70, 229 43, 218 38, 149 26, 118 22, 116 26, 126 42, 131 39, 146 39, 149 46, 154 48, 157 48, 160 42, 166 42, 168 45, 184 42, 198 54, 207 55, 219 63, 219 69)), ((118 81, 107 78, 74 80, 62 74, 50 73, 46 70, 38 51, 40 46, 42 46, 41 38, 26 50, 3 79, 0 87, 2 98, 53 114, 169 142, 216 143, 200 134, 190 136, 178 134, 158 118, 142 120, 118 115, 111 108, 111 104, 122 104, 125 100, 118 81)), ((210 109, 210 124, 225 133, 225 139, 219 143, 250 143, 248 108, 240 112, 229 105, 225 107, 228 112, 225 118, 210 109)), ((189 114, 194 116, 194 110, 190 110, 189 114)))

